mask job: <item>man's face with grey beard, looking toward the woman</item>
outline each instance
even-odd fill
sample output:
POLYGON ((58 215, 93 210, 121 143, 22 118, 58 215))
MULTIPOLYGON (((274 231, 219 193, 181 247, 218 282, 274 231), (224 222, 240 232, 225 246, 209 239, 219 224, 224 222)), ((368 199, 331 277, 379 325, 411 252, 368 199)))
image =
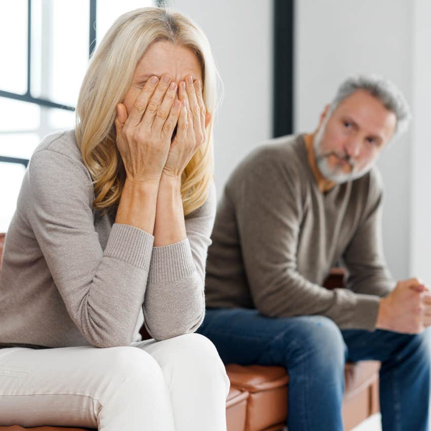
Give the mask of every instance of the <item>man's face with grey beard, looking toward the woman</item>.
POLYGON ((335 183, 364 175, 396 130, 397 117, 370 93, 357 90, 331 114, 322 114, 314 137, 317 167, 335 183))

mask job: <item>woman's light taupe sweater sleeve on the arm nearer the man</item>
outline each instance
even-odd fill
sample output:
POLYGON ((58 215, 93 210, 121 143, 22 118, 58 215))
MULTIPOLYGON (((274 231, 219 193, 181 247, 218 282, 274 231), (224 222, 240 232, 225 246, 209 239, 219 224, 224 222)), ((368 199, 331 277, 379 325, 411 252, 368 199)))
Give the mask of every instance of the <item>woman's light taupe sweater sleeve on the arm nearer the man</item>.
POLYGON ((196 331, 205 313, 205 262, 215 218, 215 186, 205 203, 186 216, 187 238, 153 247, 143 302, 145 326, 156 340, 196 331))

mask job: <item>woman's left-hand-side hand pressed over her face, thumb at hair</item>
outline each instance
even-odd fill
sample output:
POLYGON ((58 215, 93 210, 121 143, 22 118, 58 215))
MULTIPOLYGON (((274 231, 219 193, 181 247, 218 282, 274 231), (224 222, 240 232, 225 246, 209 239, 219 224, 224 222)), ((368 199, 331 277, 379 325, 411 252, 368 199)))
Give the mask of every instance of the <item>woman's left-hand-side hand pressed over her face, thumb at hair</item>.
POLYGON ((152 77, 143 86, 129 115, 123 103, 117 105, 117 147, 127 178, 132 182, 160 180, 181 111, 176 90, 170 75, 163 75, 160 82, 152 77))

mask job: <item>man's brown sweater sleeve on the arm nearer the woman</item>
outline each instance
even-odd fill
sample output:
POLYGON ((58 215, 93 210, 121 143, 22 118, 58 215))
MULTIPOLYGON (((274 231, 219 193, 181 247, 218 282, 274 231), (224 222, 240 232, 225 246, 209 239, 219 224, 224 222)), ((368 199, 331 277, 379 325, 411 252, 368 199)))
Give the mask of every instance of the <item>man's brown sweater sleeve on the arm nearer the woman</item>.
POLYGON ((301 178, 265 153, 235 185, 242 258, 256 308, 270 317, 324 315, 343 329, 375 326, 377 297, 332 291, 297 270, 302 221, 301 178))

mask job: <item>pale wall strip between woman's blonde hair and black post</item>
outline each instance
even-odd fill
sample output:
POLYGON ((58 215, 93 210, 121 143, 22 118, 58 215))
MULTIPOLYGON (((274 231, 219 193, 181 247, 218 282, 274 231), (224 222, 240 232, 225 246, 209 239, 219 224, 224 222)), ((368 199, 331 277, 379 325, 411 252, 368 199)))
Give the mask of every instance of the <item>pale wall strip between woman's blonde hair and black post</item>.
POLYGON ((214 126, 220 196, 244 155, 272 136, 272 1, 170 0, 168 4, 205 32, 224 83, 214 126))

